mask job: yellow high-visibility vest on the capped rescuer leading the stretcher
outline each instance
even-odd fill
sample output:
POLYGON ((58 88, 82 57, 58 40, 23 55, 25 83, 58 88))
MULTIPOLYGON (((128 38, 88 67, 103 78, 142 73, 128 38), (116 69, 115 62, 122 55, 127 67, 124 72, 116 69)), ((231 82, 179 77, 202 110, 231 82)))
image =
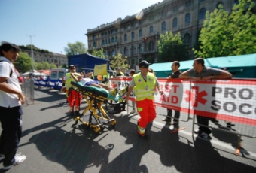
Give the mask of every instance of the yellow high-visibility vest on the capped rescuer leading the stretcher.
POLYGON ((154 74, 148 73, 146 82, 140 73, 133 75, 133 80, 135 83, 133 91, 136 101, 154 99, 154 86, 156 84, 154 74))

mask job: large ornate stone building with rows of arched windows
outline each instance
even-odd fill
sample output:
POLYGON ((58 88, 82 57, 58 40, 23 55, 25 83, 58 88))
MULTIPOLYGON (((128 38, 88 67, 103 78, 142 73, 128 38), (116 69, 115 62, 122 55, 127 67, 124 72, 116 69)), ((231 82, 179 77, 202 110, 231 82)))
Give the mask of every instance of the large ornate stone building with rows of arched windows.
POLYGON ((110 60, 121 53, 127 57, 130 68, 135 68, 142 59, 157 62, 157 41, 168 31, 173 35, 181 33, 189 57, 193 59, 192 47, 203 27, 206 11, 212 12, 223 5, 225 11, 231 12, 234 3, 238 0, 164 0, 143 9, 144 16, 140 20, 134 14, 87 29, 88 51, 103 48, 110 60))

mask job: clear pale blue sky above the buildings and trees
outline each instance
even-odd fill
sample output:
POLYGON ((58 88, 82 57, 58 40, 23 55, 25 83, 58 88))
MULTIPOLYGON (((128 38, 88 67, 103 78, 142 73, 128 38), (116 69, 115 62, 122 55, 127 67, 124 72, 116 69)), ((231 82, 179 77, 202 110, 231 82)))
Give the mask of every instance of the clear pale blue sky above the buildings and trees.
POLYGON ((0 0, 0 41, 53 53, 68 43, 88 47, 87 29, 132 16, 163 0, 0 0), (32 39, 31 39, 32 38, 32 39))

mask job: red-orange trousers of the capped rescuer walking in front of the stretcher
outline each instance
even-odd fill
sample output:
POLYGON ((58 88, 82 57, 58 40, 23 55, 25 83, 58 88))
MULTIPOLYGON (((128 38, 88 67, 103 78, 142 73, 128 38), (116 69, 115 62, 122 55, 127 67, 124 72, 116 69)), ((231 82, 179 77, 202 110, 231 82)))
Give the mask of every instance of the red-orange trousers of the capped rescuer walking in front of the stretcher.
POLYGON ((140 115, 140 119, 138 120, 139 126, 142 128, 146 128, 148 123, 151 123, 156 117, 156 109, 154 108, 154 100, 141 100, 136 101, 137 110, 140 115))

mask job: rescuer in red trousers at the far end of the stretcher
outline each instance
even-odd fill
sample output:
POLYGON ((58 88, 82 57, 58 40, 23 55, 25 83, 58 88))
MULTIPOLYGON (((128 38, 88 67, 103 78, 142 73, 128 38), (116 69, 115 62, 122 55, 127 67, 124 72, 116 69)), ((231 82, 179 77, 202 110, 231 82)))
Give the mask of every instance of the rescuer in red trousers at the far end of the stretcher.
POLYGON ((66 93, 67 93, 68 102, 69 102, 69 113, 70 114, 74 113, 73 107, 75 102, 75 114, 79 114, 82 96, 81 96, 81 93, 78 93, 76 90, 71 90, 72 88, 71 82, 72 81, 75 82, 75 79, 72 77, 71 74, 75 75, 75 77, 81 76, 81 74, 78 74, 75 72, 74 65, 69 65, 69 71, 70 72, 66 74, 66 93))

